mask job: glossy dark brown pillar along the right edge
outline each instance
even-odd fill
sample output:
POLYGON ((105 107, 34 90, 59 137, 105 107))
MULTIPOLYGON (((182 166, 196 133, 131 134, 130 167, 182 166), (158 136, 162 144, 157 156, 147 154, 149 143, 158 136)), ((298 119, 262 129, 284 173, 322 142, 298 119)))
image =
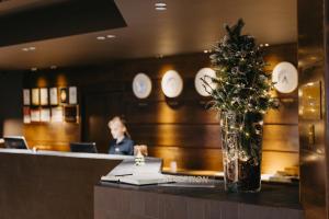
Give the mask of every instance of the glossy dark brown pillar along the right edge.
MULTIPOLYGON (((329 218, 329 1, 298 0, 299 89, 320 82, 320 117, 299 114, 300 201, 306 219, 329 218), (308 13, 313 11, 313 13, 308 13), (314 127, 314 128, 311 128, 314 127), (313 140, 314 139, 314 140, 313 140)), ((300 92, 299 110, 308 99, 300 92)), ((309 105, 308 105, 309 106, 309 105)))

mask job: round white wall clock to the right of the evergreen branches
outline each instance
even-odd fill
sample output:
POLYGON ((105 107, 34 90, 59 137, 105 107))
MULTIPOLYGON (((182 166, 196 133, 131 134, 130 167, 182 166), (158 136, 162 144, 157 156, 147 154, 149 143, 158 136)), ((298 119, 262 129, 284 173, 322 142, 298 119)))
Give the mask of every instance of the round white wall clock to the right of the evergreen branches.
POLYGON ((290 62, 280 62, 273 69, 272 81, 279 92, 291 93, 298 87, 297 69, 290 62))

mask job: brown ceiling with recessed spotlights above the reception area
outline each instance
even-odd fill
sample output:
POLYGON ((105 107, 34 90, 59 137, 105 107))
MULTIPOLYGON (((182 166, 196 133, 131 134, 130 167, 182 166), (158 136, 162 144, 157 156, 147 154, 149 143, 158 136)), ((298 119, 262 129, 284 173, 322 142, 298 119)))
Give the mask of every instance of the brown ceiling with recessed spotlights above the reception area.
MULTIPOLYGON (((97 23, 88 22, 91 21, 89 19, 92 14, 92 10, 89 10, 84 13, 70 14, 71 18, 79 16, 76 21, 81 21, 78 32, 72 31, 77 28, 77 25, 60 20, 67 11, 63 5, 71 5, 71 2, 84 2, 87 8, 106 12, 106 10, 101 10, 105 4, 100 2, 105 2, 104 0, 47 0, 48 3, 44 2, 44 0, 9 0, 0 3, 0 24, 1 19, 5 19, 9 24, 7 27, 2 27, 0 44, 1 38, 4 38, 5 35, 12 38, 20 38, 16 35, 21 35, 21 38, 29 38, 26 36, 32 38, 29 43, 26 41, 12 41, 7 45, 2 43, 0 69, 16 70, 33 67, 41 69, 54 65, 58 67, 97 65, 115 59, 198 53, 211 48, 223 35, 224 23, 232 24, 239 18, 246 21, 245 32, 254 35, 259 43, 273 45, 297 41, 296 0, 163 0, 167 3, 166 11, 155 10, 155 3, 158 2, 156 0, 115 0, 114 3, 121 14, 118 13, 114 18, 123 19, 121 23, 118 22, 120 25, 107 25, 104 28, 113 21, 113 18, 111 20, 110 16, 106 22, 104 19, 98 20, 97 23), (14 5, 13 2, 20 3, 14 5), (43 18, 42 21, 47 25, 42 28, 23 32, 20 30, 24 30, 24 22, 13 22, 18 16, 31 13, 33 10, 38 11, 37 14, 47 14, 42 11, 54 11, 54 9, 58 15, 52 13, 52 16, 43 18), (15 27, 13 28, 11 24, 15 24, 15 27), (91 28, 93 24, 101 25, 91 28), (61 34, 58 34, 60 31, 49 31, 54 25, 65 31, 61 34), (61 28, 63 26, 66 28, 61 28), (11 30, 11 34, 5 34, 5 28, 11 30), (81 31, 81 28, 83 30, 81 31), (46 34, 47 36, 44 38, 36 37, 43 35, 41 33, 52 34, 46 34), (116 37, 106 41, 97 39, 98 36, 109 34, 116 37), (22 48, 31 46, 36 49, 33 51, 22 50, 22 48)), ((106 2, 113 3, 111 0, 106 0, 106 2)), ((109 11, 109 14, 113 13, 109 11)), ((66 18, 69 20, 68 16, 66 18)))

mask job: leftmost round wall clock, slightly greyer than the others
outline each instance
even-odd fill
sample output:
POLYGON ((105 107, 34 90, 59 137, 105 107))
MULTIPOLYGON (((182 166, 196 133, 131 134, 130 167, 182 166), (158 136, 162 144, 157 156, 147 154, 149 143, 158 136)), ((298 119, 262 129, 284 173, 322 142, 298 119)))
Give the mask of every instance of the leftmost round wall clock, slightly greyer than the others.
POLYGON ((150 78, 145 73, 137 73, 133 81, 133 91, 138 99, 146 99, 152 90, 150 78))

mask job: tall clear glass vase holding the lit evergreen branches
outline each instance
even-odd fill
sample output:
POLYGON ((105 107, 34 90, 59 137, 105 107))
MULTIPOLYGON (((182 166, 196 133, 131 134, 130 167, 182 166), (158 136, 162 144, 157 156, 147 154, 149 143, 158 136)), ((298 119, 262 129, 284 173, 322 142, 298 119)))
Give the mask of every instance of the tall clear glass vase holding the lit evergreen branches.
POLYGON ((262 114, 220 113, 225 191, 260 192, 262 130, 262 114))

